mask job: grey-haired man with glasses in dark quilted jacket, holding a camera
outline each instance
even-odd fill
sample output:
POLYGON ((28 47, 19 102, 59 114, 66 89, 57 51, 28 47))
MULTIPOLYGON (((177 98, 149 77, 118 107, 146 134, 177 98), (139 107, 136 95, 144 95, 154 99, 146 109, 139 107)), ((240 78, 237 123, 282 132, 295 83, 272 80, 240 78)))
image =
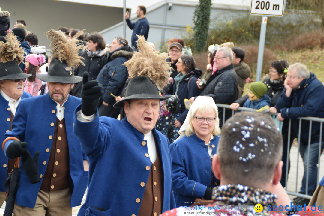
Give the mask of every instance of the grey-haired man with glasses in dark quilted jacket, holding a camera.
MULTIPOLYGON (((202 96, 213 97, 215 103, 231 104, 237 96, 237 75, 234 70, 233 52, 228 47, 219 48, 215 54, 214 62, 217 71, 208 79, 206 85, 200 93, 202 96)), ((195 97, 190 98, 190 102, 195 97)), ((223 108, 218 109, 220 125, 222 124, 223 108)), ((231 116, 231 112, 226 112, 225 119, 231 116)))

